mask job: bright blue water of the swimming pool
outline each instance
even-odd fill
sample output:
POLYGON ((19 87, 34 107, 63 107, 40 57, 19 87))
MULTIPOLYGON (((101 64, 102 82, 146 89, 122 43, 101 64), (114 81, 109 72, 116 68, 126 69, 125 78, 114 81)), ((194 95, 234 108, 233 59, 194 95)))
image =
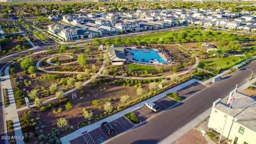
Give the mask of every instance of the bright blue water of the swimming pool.
POLYGON ((145 61, 150 61, 150 59, 156 59, 158 62, 166 62, 156 51, 149 50, 149 52, 143 52, 143 51, 131 51, 131 53, 134 53, 133 58, 137 59, 139 62, 141 62, 141 59, 145 59, 145 61))

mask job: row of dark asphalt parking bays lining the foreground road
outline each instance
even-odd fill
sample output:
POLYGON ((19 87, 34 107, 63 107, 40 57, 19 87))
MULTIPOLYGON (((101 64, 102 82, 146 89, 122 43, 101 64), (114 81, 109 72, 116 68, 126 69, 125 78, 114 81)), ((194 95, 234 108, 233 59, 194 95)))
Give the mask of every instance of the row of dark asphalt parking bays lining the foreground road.
MULTIPOLYGON (((201 91, 206 86, 199 84, 197 82, 190 84, 186 87, 183 87, 182 89, 178 90, 179 97, 181 97, 183 100, 190 97, 190 95, 201 91)), ((166 109, 169 109, 178 101, 173 100, 169 97, 163 97, 161 99, 158 99, 156 101, 153 101, 160 109, 160 111, 164 111, 166 109)), ((157 115, 157 113, 154 113, 152 110, 150 110, 147 107, 141 107, 135 111, 133 111, 135 115, 140 119, 141 122, 146 121, 150 117, 154 117, 157 115)), ((159 113, 159 112, 158 112, 159 113)), ((129 120, 127 120, 124 116, 121 118, 116 119, 115 121, 110 122, 110 124, 114 127, 116 133, 109 136, 107 135, 101 127, 98 127, 97 129, 91 131, 91 132, 83 132, 81 137, 78 137, 74 140, 71 140, 70 142, 72 144, 75 143, 85 143, 85 144, 96 144, 96 143, 102 143, 112 137, 115 137, 115 135, 119 133, 123 133, 129 129, 131 129, 134 124, 132 124, 129 120)))

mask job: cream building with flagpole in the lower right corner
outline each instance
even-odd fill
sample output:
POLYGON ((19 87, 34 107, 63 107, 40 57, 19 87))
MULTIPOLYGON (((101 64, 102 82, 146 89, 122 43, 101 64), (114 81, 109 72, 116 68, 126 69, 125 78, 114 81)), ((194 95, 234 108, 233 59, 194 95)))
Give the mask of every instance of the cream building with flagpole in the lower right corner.
POLYGON ((256 143, 256 99, 236 92, 229 114, 228 109, 229 106, 221 99, 213 102, 208 127, 221 133, 227 119, 223 137, 232 144, 256 143))

